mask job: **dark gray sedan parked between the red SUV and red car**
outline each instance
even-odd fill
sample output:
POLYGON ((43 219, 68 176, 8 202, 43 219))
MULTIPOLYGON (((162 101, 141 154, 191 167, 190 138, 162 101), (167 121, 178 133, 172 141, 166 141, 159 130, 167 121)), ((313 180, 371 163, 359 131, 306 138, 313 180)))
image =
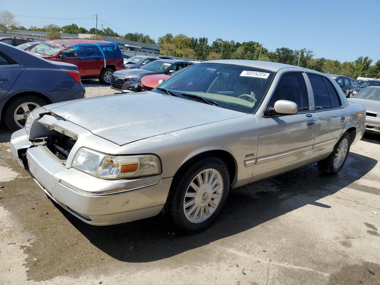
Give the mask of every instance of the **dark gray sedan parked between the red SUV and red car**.
POLYGON ((141 68, 129 68, 112 73, 111 89, 121 92, 136 92, 141 78, 151 74, 171 74, 194 63, 175 59, 158 59, 141 68))

